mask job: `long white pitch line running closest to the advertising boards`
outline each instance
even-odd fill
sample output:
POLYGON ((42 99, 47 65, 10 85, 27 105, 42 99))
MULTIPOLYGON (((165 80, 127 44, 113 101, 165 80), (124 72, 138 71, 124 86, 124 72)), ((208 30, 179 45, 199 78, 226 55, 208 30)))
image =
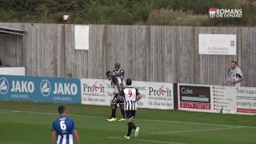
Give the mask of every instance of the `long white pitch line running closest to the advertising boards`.
MULTIPOLYGON (((0 110, 1 111, 1 110, 0 110)), ((46 112, 37 112, 37 111, 21 111, 21 110, 2 110, 2 111, 10 111, 13 113, 34 113, 34 114, 54 114, 57 115, 57 113, 46 113, 46 112)), ((78 115, 78 114, 68 114, 70 116, 76 116, 76 117, 84 117, 84 118, 104 118, 101 116, 91 116, 91 115, 78 115)), ((137 118, 140 121, 145 122, 170 122, 170 123, 185 123, 185 124, 194 124, 194 125, 205 125, 205 126, 233 126, 238 127, 235 125, 221 125, 221 124, 214 124, 214 123, 202 123, 202 122, 179 122, 179 121, 166 121, 166 120, 159 120, 159 119, 143 119, 143 118, 137 118)), ((243 126, 246 128, 256 128, 255 126, 243 126)))

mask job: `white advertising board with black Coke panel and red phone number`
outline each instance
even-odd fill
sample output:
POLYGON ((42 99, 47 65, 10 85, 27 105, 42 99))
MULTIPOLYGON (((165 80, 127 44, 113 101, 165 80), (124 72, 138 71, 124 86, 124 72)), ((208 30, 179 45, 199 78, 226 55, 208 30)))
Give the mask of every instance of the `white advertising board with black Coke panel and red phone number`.
POLYGON ((178 110, 256 114, 256 88, 178 84, 178 110))

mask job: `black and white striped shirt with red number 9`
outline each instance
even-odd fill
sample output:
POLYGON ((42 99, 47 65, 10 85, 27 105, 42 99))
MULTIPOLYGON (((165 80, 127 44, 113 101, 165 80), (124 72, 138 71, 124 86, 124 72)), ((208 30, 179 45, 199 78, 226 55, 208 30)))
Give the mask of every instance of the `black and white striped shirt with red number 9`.
POLYGON ((125 110, 137 110, 138 89, 134 88, 134 86, 126 86, 122 93, 124 95, 125 110))

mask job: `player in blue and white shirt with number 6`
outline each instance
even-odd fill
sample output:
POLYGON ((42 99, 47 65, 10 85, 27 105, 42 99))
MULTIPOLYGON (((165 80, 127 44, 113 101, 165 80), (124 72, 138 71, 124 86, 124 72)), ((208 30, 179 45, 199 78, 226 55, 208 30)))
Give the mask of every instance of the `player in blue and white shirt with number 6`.
POLYGON ((73 136, 77 144, 80 144, 78 130, 71 118, 66 116, 65 106, 58 106, 59 118, 52 125, 52 144, 73 144, 73 136))

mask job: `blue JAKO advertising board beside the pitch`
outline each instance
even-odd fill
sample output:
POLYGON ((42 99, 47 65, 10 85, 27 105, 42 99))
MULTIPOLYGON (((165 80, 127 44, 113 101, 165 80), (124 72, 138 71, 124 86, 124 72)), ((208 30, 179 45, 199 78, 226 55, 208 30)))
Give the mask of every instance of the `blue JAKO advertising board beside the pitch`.
POLYGON ((0 75, 0 99, 81 103, 81 86, 78 78, 0 75))

